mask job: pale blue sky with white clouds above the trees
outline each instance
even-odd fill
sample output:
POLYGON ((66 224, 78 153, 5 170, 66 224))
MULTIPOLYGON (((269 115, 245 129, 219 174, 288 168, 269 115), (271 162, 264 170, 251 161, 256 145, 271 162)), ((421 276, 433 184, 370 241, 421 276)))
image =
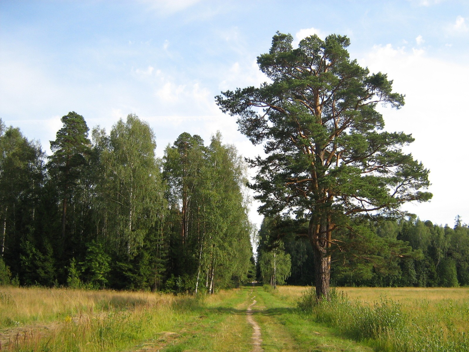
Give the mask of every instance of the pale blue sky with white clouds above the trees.
POLYGON ((262 148, 214 96, 266 80, 256 60, 276 31, 294 44, 347 35, 352 59, 387 73, 406 105, 379 107, 385 128, 412 133, 406 152, 431 171, 433 199, 403 209, 469 222, 466 0, 0 0, 0 118, 48 154, 61 116, 75 111, 107 131, 138 115, 159 157, 182 132, 208 144, 217 130, 254 157, 262 148))

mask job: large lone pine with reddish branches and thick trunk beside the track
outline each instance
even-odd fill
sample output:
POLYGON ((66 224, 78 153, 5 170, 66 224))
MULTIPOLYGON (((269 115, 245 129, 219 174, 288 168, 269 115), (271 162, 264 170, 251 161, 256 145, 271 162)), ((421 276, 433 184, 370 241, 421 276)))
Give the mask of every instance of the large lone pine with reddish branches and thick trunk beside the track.
POLYGON ((401 214, 407 201, 430 199, 422 191, 429 171, 403 152, 411 135, 383 131, 377 104, 399 108, 404 97, 385 74, 350 60, 347 37, 314 35, 297 48, 292 42, 277 32, 269 53, 258 56, 271 83, 222 92, 216 101, 238 116, 253 144, 264 143, 266 156, 250 160, 259 170, 251 185, 263 202, 259 211, 309 224, 316 287, 328 297, 335 234, 363 218, 401 214))

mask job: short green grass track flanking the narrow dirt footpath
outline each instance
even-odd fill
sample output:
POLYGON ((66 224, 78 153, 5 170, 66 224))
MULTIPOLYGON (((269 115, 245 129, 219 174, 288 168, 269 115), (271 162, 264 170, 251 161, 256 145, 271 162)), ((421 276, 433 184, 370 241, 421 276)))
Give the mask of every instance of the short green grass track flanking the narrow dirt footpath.
POLYGON ((372 351, 301 316, 294 299, 278 297, 259 286, 230 292, 236 294, 200 308, 202 318, 197 327, 183 328, 180 337, 160 351, 252 351, 252 327, 246 321, 245 310, 253 296, 257 300, 253 317, 261 326, 265 352, 372 351))

